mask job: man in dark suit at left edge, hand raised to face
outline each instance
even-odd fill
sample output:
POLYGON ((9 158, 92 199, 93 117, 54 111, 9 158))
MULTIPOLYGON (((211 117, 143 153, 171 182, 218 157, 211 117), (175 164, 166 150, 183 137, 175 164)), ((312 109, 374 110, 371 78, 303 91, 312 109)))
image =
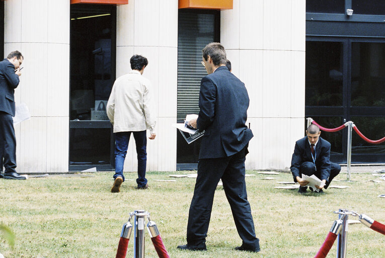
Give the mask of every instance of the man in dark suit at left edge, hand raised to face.
MULTIPOLYGON (((24 60, 19 51, 11 52, 0 62, 0 164, 5 179, 26 179, 16 172, 16 137, 13 116, 15 116, 15 89, 21 76, 20 65, 24 60), (1 167, 3 171, 3 166, 1 167)), ((1 171, 1 172, 2 172, 1 171)))

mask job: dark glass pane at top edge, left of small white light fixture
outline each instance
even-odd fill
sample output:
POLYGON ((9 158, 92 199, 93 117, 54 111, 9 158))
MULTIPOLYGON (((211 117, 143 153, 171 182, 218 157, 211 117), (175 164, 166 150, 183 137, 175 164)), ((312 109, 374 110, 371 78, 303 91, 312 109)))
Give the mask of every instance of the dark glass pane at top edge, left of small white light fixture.
POLYGON ((306 0, 306 13, 343 14, 345 0, 306 0))

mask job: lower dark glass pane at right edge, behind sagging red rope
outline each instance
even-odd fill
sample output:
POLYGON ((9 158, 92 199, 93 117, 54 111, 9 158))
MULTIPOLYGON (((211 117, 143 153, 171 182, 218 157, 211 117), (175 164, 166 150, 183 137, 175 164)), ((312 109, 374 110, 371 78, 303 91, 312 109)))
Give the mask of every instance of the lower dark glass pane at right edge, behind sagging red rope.
MULTIPOLYGON (((370 140, 379 140, 385 137, 385 117, 352 116, 351 120, 358 130, 370 140)), ((352 153, 385 154, 385 143, 367 143, 353 132, 352 153)))

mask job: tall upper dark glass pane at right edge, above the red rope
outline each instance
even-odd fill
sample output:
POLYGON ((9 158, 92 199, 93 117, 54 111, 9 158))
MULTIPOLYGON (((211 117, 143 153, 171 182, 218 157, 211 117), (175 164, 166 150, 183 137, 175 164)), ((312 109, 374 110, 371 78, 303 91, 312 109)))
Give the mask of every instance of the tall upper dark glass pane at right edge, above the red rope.
POLYGON ((352 43, 351 106, 385 106, 385 43, 352 43))

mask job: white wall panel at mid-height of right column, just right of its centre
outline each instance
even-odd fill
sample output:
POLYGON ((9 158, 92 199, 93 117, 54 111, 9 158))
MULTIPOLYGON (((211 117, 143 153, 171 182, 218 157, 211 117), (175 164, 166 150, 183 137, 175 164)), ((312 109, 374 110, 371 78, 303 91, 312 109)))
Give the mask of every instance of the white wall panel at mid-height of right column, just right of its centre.
POLYGON ((263 52, 263 117, 290 116, 291 52, 263 52))

